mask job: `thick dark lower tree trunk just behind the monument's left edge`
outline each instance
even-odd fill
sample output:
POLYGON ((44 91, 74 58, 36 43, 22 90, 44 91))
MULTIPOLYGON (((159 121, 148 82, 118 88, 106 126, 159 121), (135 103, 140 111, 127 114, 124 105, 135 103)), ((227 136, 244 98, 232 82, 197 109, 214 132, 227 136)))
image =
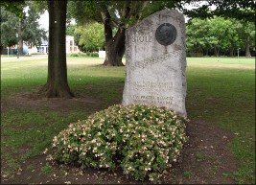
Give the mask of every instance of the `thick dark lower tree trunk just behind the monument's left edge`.
POLYGON ((125 54, 126 30, 119 28, 117 34, 105 42, 106 66, 124 66, 122 58, 125 54))

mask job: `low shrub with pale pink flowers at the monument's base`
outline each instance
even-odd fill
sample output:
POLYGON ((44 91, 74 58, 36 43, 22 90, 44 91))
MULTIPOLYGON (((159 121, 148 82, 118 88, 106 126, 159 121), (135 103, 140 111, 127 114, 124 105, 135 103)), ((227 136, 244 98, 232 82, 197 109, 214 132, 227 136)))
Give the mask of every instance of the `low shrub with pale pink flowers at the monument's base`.
POLYGON ((156 182, 186 141, 185 122, 165 107, 115 104, 60 131, 48 157, 83 168, 120 165, 129 177, 156 182))

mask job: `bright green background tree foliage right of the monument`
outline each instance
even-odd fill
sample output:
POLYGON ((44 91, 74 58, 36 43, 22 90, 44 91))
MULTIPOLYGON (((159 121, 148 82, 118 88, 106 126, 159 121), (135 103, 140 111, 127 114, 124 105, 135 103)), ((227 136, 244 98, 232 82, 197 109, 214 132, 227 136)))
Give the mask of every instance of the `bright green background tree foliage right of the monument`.
POLYGON ((247 44, 255 51, 254 33, 255 28, 249 22, 218 16, 205 20, 195 18, 186 27, 188 55, 195 57, 193 55, 208 55, 209 52, 215 56, 222 54, 233 57, 238 48, 244 51, 247 37, 247 44))

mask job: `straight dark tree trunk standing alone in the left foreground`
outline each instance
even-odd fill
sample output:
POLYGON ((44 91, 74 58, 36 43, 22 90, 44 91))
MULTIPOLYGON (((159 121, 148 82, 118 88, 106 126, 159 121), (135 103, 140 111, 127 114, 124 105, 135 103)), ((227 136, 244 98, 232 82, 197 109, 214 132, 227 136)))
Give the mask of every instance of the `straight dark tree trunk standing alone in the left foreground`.
POLYGON ((48 78, 41 89, 46 97, 71 98, 66 66, 66 11, 67 1, 49 0, 48 78))

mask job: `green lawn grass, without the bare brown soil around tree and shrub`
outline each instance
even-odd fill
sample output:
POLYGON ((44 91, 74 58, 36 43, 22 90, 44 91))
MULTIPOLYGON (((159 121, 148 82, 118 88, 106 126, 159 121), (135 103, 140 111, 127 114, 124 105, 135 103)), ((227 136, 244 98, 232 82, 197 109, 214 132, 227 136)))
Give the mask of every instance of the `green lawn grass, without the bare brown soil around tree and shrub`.
MULTIPOLYGON (((187 62, 188 118, 234 132, 229 149, 239 169, 229 175, 237 183, 254 183, 255 58, 187 58, 187 62)), ((124 83, 125 67, 104 67, 102 63, 102 58, 67 58, 71 89, 100 100, 104 108, 122 100, 115 87, 124 83)), ((1 102, 12 100, 16 93, 36 91, 46 78, 47 58, 1 59, 1 102)), ((1 175, 12 176, 24 160, 49 147, 61 129, 88 115, 81 107, 68 114, 45 108, 4 108, 1 157, 8 165, 1 168, 1 175)))

